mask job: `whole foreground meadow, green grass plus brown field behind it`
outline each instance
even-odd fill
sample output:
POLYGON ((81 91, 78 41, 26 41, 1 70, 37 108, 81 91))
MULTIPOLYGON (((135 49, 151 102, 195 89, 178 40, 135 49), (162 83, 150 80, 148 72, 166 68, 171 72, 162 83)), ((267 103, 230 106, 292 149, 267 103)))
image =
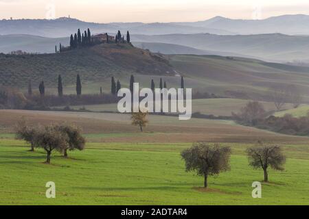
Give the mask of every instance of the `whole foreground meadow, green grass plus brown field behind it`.
POLYGON ((130 125, 128 115, 29 112, 0 113, 1 205, 308 205, 309 139, 284 136, 225 120, 179 121, 150 116, 144 133, 130 125), (28 151, 14 140, 12 126, 24 116, 32 123, 75 121, 84 129, 84 151, 69 151, 65 159, 54 151, 52 164, 45 152, 28 151), (118 117, 117 117, 118 116, 118 117), (248 166, 245 149, 266 139, 284 146, 282 172, 269 170, 262 198, 252 198, 251 184, 262 181, 262 170, 248 166), (209 177, 185 172, 180 152, 205 140, 231 146, 231 171, 209 177), (56 198, 45 197, 45 183, 56 183, 56 198))

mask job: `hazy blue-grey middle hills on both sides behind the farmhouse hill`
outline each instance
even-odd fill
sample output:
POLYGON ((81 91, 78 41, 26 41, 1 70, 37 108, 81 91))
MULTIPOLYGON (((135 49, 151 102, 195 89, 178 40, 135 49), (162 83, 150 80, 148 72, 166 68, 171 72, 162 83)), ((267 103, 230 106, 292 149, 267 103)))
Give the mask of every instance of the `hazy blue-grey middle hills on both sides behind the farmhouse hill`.
MULTIPOLYGON (((164 54, 195 54, 252 57, 271 62, 309 62, 309 37, 284 34, 229 35, 168 34, 131 35, 141 49, 164 54)), ((69 44, 69 38, 30 35, 0 36, 0 53, 23 50, 54 53, 55 45, 69 44)))

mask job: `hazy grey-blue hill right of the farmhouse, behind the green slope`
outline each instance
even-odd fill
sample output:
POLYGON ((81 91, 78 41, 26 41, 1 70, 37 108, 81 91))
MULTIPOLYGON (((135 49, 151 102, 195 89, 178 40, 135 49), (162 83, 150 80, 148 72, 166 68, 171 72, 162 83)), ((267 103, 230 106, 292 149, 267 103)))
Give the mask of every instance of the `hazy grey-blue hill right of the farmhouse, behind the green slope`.
POLYGON ((133 42, 179 44, 202 51, 241 54, 240 56, 257 57, 271 62, 309 61, 308 36, 288 36, 284 34, 230 36, 168 34, 156 36, 133 35, 131 40, 133 42))

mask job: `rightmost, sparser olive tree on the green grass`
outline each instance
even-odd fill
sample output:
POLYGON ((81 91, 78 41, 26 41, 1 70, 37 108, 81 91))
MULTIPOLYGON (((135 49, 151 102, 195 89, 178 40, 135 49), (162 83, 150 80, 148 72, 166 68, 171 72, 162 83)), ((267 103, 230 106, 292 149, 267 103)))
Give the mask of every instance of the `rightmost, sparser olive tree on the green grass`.
POLYGON ((264 181, 266 182, 268 181, 267 168, 269 166, 274 170, 284 170, 286 157, 279 146, 264 145, 262 142, 258 142, 257 145, 247 149, 247 155, 250 166, 264 170, 264 181))

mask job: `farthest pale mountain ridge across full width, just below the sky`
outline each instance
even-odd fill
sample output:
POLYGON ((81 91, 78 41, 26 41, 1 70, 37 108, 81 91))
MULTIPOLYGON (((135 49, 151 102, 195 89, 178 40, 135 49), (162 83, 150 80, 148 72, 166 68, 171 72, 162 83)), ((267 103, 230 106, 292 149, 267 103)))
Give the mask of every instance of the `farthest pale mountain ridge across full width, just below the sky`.
POLYGON ((174 23, 91 23, 75 18, 1 20, 0 33, 30 34, 52 38, 67 37, 76 29, 91 28, 93 33, 131 34, 272 34, 309 35, 309 16, 305 14, 273 16, 262 20, 231 19, 216 16, 205 21, 174 23))

